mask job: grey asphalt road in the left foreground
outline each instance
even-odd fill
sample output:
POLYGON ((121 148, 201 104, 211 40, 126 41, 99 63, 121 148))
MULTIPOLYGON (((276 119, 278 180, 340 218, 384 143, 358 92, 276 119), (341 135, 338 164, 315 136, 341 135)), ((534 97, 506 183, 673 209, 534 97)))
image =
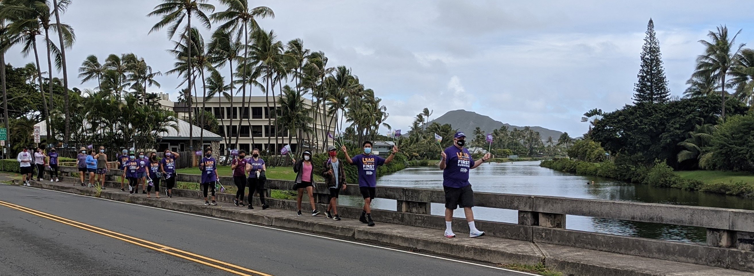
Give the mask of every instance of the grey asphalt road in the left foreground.
MULTIPOLYGON (((21 186, 0 185, 0 201, 273 276, 524 275, 274 228, 21 186)), ((234 274, 0 206, 0 275, 234 274)))

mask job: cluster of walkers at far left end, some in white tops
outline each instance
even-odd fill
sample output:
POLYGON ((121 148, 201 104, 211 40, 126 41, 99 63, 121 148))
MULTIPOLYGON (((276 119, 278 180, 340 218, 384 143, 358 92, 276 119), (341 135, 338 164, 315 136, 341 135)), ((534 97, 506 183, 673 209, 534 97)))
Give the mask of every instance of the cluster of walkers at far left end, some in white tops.
POLYGON ((23 186, 31 186, 29 182, 34 179, 34 170, 37 171, 36 181, 41 182, 44 176, 44 167, 50 168, 50 182, 60 181, 57 178, 58 154, 56 149, 50 148, 48 153, 45 153, 44 149, 39 147, 36 147, 33 153, 29 152, 29 149, 30 147, 24 146, 23 151, 19 152, 16 157, 19 162, 23 186))

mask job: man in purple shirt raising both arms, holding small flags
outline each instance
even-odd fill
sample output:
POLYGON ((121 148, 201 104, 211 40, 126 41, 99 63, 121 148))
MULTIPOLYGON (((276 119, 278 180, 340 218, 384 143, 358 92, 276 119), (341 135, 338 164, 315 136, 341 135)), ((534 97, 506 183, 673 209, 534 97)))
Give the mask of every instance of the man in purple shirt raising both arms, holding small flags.
POLYGON ((345 161, 348 164, 356 165, 359 175, 359 190, 364 198, 364 209, 361 211, 359 221, 366 223, 366 225, 374 226, 375 222, 372 221, 372 199, 375 198, 375 191, 377 186, 377 167, 383 164, 389 164, 393 161, 395 154, 398 152, 398 148, 393 146, 393 151, 390 153, 387 159, 372 155, 372 142, 366 141, 363 143, 364 153, 351 158, 348 156, 348 149, 345 146, 342 147, 343 153, 345 153, 345 161))

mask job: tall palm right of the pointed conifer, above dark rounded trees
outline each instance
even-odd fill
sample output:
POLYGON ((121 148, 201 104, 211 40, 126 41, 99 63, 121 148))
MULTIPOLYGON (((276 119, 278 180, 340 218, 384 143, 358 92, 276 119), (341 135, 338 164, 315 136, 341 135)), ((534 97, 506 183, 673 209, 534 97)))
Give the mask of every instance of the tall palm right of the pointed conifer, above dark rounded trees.
POLYGON ((730 70, 735 66, 738 54, 740 53, 741 48, 743 48, 743 45, 745 45, 743 43, 735 45, 736 37, 740 32, 741 30, 738 30, 738 32, 733 35, 733 38, 728 38, 728 27, 719 26, 717 27, 716 32, 710 31, 707 34, 707 36, 712 39, 711 42, 705 40, 699 41, 699 43, 703 44, 706 49, 704 54, 697 57, 697 71, 694 72, 694 75, 710 74, 713 75, 714 78, 720 79, 720 87, 722 88, 720 93, 722 99, 722 112, 720 113, 720 118, 722 121, 725 121, 725 98, 728 95, 725 93, 725 86, 730 86, 730 84, 725 82, 725 76, 728 75, 730 70))

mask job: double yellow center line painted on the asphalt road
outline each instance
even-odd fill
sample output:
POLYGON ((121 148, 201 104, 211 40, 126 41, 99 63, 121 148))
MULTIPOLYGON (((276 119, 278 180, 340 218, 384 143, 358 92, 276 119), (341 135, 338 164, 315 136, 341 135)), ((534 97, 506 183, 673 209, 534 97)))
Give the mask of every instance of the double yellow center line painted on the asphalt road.
POLYGON ((165 246, 165 245, 162 245, 162 244, 153 243, 152 241, 145 241, 145 240, 142 240, 140 238, 131 237, 129 235, 123 235, 123 234, 118 233, 118 232, 112 232, 112 231, 109 231, 107 229, 99 228, 97 226, 87 225, 87 224, 82 223, 82 222, 76 222, 76 221, 71 220, 71 219, 66 219, 66 218, 63 218, 63 217, 60 217, 60 216, 55 216, 55 215, 52 215, 52 214, 49 214, 49 213, 44 213, 44 212, 41 212, 41 211, 38 211, 38 210, 34 210, 34 209, 30 209, 30 208, 27 208, 27 207, 20 206, 20 205, 17 205, 17 204, 12 204, 12 203, 8 203, 8 202, 5 202, 5 201, 0 201, 0 205, 5 206, 5 207, 9 207, 9 208, 13 208, 13 209, 16 209, 16 210, 20 210, 22 212, 30 213, 30 214, 35 215, 35 216, 41 216, 41 217, 43 217, 45 219, 51 219, 51 220, 54 220, 56 222, 60 222, 60 223, 67 224, 67 225, 71 225, 71 226, 76 227, 76 228, 81 228, 81 229, 84 229, 84 230, 89 231, 89 232, 94 232, 94 233, 97 233, 97 234, 100 234, 100 235, 105 235, 105 236, 108 236, 110 238, 115 238, 115 239, 118 239, 118 240, 121 240, 121 241, 125 241, 125 242, 130 243, 130 244, 136 244, 138 246, 146 247, 146 248, 149 248, 151 250, 156 250, 156 251, 159 251, 159 252, 162 252, 162 253, 170 254, 170 255, 173 255, 173 256, 176 256, 176 257, 179 257, 179 258, 182 258, 182 259, 188 259, 189 261, 198 262, 198 263, 201 263, 203 265, 207 265, 207 266, 211 266, 213 268, 218 268, 218 269, 221 269, 221 270, 224 270, 224 271, 231 272, 233 274, 238 274, 238 275, 243 275, 243 276, 272 276, 270 274, 265 274, 265 273, 262 273, 262 272, 259 272, 259 271, 254 271, 254 270, 251 270, 249 268, 244 268, 244 267, 241 267, 241 266, 238 266, 238 265, 234 265, 234 264, 231 264, 231 263, 228 263, 228 262, 222 262, 222 261, 219 261, 219 260, 216 260, 216 259, 212 259, 212 258, 209 258, 209 257, 201 256, 201 255, 198 255, 198 254, 195 254, 195 253, 186 252, 186 251, 179 250, 179 249, 176 249, 176 248, 173 248, 173 247, 168 247, 168 246, 165 246), (250 274, 248 274, 248 273, 250 273, 250 274))

